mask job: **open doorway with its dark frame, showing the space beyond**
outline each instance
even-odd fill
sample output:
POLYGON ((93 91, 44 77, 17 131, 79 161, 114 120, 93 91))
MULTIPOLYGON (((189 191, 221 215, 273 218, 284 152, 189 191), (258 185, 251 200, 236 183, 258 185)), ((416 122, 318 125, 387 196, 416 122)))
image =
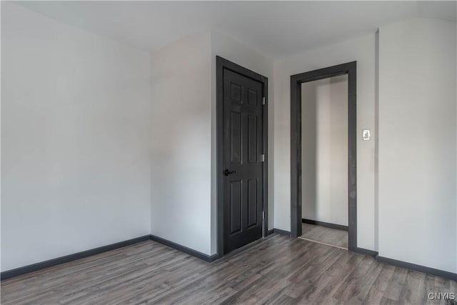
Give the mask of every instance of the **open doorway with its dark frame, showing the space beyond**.
POLYGON ((356 251, 356 171, 356 61, 291 76, 291 235, 356 251))

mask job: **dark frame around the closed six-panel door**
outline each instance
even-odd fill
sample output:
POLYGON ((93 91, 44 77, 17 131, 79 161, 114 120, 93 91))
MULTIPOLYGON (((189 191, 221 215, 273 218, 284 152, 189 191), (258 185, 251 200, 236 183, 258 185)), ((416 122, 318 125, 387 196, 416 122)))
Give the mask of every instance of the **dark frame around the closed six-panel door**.
POLYGON ((263 236, 268 231, 268 79, 261 74, 239 66, 227 59, 216 56, 216 188, 217 188, 217 252, 218 258, 224 256, 224 69, 246 76, 263 84, 263 236))

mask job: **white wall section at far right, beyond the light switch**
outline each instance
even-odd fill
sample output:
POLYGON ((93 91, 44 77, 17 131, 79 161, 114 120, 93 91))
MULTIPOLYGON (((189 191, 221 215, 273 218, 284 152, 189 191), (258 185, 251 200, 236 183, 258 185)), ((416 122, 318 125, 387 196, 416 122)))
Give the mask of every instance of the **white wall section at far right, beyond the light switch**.
POLYGON ((456 23, 379 29, 379 255, 457 271, 456 23))

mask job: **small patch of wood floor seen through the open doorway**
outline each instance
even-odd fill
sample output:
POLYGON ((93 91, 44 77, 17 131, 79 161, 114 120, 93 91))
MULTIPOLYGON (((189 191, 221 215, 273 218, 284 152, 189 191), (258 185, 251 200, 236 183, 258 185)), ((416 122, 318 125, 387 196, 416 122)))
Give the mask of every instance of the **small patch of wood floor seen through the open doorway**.
POLYGON ((348 249, 348 231, 316 226, 315 224, 301 224, 301 237, 321 241, 334 246, 348 249))

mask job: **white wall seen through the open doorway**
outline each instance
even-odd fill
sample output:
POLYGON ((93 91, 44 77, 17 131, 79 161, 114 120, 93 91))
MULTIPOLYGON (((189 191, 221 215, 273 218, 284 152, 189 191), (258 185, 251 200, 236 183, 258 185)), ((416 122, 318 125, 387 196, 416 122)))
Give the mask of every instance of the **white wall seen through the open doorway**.
POLYGON ((302 218, 348 225, 348 76, 301 84, 302 218))

